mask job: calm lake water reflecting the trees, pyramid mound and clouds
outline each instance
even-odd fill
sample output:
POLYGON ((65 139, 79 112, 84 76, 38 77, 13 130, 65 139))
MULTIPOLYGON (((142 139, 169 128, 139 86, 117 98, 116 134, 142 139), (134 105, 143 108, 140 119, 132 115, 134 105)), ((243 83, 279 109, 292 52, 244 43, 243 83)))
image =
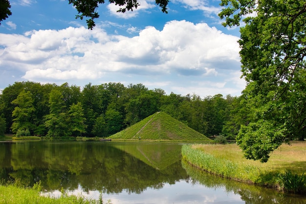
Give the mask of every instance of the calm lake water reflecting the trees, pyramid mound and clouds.
POLYGON ((0 142, 0 179, 112 204, 306 204, 306 197, 228 181, 181 161, 181 144, 0 142))

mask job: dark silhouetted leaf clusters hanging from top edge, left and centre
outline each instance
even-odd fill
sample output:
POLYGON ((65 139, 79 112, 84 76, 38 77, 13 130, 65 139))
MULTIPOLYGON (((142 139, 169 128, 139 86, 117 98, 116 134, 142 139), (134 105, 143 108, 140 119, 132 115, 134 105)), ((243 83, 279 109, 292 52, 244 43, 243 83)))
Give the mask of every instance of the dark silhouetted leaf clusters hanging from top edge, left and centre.
MULTIPOLYGON (((167 5, 169 0, 155 0, 155 3, 161 7, 163 13, 168 13, 167 5)), ((97 13, 99 4, 105 3, 105 0, 69 0, 69 4, 72 4, 78 11, 78 15, 75 16, 76 19, 86 20, 88 29, 92 29, 95 26, 94 19, 100 17, 97 13)), ((133 11, 140 4, 138 0, 109 0, 109 3, 114 3, 121 6, 117 12, 125 13, 126 11, 133 11)), ((0 0, 0 22, 12 15, 10 11, 11 5, 9 0, 0 0)), ((1 23, 0 23, 1 24, 1 23)))

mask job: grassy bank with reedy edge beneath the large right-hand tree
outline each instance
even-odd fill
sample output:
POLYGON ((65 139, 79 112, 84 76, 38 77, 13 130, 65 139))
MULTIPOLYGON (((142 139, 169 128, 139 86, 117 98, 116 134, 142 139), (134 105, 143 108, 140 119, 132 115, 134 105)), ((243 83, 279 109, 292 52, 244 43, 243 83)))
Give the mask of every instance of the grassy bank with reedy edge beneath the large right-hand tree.
POLYGON ((192 165, 212 174, 305 194, 305 142, 282 145, 267 163, 243 158, 236 144, 184 145, 182 155, 192 165))

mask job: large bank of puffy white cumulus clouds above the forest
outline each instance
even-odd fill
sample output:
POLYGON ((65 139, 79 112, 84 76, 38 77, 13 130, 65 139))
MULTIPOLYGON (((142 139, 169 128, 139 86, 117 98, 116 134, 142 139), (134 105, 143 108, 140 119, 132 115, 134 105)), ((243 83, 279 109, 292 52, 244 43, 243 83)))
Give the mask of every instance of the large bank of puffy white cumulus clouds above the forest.
POLYGON ((99 27, 33 30, 0 34, 0 66, 38 82, 159 84, 168 92, 201 95, 220 92, 226 84, 232 88, 223 91, 237 95, 243 89, 239 79, 232 79, 239 78, 237 40, 206 23, 186 21, 168 22, 162 30, 146 27, 132 38, 109 35, 99 27))

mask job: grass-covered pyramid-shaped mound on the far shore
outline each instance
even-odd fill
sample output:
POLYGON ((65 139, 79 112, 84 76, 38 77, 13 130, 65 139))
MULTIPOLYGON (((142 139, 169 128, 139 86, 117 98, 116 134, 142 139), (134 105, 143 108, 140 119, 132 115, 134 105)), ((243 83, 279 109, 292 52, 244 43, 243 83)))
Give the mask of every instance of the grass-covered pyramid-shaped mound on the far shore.
POLYGON ((108 138, 138 140, 139 137, 152 140, 210 140, 163 112, 154 113, 108 138))

